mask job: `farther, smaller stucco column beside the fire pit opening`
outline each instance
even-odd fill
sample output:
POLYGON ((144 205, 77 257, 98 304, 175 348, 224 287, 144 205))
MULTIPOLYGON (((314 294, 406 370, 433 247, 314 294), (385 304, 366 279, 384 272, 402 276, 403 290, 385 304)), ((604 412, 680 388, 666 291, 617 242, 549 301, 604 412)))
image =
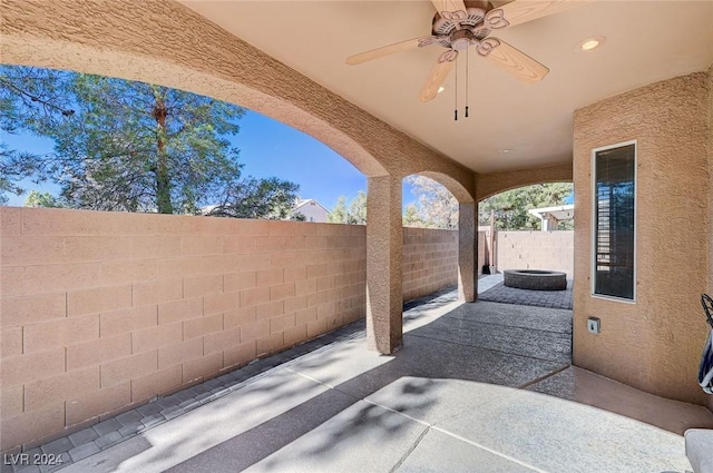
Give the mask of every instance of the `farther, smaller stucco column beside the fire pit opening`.
POLYGON ((478 298, 478 227, 476 203, 458 206, 458 299, 478 298))

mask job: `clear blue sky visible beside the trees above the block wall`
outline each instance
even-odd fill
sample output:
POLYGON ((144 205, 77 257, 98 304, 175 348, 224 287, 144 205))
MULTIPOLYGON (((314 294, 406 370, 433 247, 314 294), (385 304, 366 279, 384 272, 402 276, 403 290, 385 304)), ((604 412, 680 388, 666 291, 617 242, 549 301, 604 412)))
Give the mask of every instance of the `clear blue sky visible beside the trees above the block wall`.
MULTIPOLYGON (((351 200, 359 190, 367 190, 367 177, 333 149, 309 135, 273 120, 264 115, 248 111, 240 121, 241 131, 232 138, 233 145, 241 150, 240 160, 244 176, 271 177, 291 180, 300 185, 302 198, 316 199, 328 209, 332 209, 340 196, 351 200)), ((8 135, 2 139, 11 149, 28 152, 50 152, 53 141, 37 138, 28 134, 8 135)), ((42 186, 22 183, 31 190, 58 194, 51 184, 42 186)), ((9 205, 22 206, 26 195, 9 195, 9 205)), ((414 200, 411 187, 404 184, 403 204, 414 200)))

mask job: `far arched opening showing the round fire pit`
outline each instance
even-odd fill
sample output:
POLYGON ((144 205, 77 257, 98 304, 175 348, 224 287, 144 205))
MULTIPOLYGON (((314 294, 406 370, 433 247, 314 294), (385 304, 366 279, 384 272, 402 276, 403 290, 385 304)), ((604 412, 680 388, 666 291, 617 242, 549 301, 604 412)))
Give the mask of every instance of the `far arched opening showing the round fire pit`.
POLYGON ((480 200, 478 206, 484 242, 481 270, 487 275, 480 280, 480 298, 572 309, 575 221, 572 184, 515 187, 480 200), (554 277, 561 278, 561 285, 566 277, 566 288, 557 284, 563 290, 551 290, 554 286, 548 284, 554 277))

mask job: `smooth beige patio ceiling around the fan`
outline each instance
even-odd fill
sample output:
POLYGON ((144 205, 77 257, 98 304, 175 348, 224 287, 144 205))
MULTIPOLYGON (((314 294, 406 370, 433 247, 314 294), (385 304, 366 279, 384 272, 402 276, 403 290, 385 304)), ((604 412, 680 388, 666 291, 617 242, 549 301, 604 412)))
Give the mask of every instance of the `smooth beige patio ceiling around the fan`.
POLYGON ((182 2, 477 173, 570 161, 574 110, 713 63, 713 1, 583 3, 491 35, 546 65, 550 72, 541 82, 524 85, 470 48, 470 117, 462 117, 465 61, 459 60, 455 121, 453 72, 434 100, 417 99, 441 47, 359 66, 344 62, 351 55, 430 35, 430 1, 182 2), (577 48, 595 36, 606 42, 587 52, 577 48))

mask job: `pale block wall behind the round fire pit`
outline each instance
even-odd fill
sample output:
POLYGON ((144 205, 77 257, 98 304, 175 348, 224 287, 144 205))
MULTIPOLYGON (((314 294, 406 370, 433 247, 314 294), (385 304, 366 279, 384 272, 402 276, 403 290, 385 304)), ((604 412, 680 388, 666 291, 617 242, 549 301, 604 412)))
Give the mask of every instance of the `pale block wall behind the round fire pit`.
POLYGON ((497 231, 498 270, 550 269, 574 276, 574 231, 497 231))

